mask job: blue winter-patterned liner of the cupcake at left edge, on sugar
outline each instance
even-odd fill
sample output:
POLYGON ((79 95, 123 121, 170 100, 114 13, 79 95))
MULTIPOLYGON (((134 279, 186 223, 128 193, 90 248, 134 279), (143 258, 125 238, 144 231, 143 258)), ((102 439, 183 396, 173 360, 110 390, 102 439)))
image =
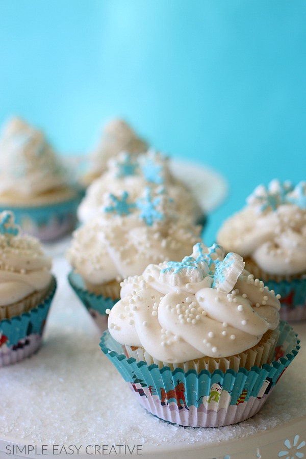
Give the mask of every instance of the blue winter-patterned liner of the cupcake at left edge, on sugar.
POLYGON ((56 286, 53 277, 47 297, 35 308, 0 321, 0 367, 19 362, 38 350, 56 286))

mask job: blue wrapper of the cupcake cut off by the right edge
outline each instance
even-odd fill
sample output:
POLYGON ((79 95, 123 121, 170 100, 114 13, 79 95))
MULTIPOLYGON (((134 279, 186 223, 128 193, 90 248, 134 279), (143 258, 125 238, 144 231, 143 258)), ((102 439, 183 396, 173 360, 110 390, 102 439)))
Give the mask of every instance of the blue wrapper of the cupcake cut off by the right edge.
POLYGON ((265 281, 269 290, 281 295, 281 310, 279 315, 283 320, 306 320, 306 279, 287 281, 265 281))

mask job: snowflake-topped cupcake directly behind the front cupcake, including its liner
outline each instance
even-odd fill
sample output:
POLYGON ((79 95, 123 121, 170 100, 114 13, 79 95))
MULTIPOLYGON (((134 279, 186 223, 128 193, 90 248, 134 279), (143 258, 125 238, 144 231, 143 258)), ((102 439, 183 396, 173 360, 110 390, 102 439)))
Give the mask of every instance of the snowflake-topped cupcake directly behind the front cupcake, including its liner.
POLYGON ((164 188, 146 188, 136 200, 124 190, 109 193, 99 213, 73 233, 70 284, 89 310, 96 313, 100 304, 105 327, 105 310, 119 298, 123 278, 150 262, 182 259, 199 233, 199 226, 175 212, 164 188))

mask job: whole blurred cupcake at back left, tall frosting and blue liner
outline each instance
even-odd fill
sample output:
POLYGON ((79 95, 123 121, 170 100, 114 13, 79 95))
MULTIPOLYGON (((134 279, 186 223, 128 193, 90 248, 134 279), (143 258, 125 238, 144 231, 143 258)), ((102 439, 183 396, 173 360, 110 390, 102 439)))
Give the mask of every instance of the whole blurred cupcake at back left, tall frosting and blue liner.
POLYGON ((72 231, 80 192, 42 132, 19 118, 0 137, 0 211, 11 209, 22 230, 42 241, 72 231))

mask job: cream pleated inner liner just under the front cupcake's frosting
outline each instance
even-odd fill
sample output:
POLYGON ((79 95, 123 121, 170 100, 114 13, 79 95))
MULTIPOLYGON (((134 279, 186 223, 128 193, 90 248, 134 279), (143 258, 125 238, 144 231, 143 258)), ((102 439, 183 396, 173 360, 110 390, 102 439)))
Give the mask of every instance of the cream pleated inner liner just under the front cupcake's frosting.
POLYGON ((279 333, 278 328, 270 331, 270 336, 266 340, 263 339, 257 346, 254 346, 254 348, 248 349, 237 355, 220 359, 203 357, 202 359, 191 360, 181 364, 161 362, 148 354, 143 347, 133 348, 124 345, 123 349, 127 358, 133 357, 138 362, 144 361, 147 365, 155 364, 159 368, 168 366, 171 370, 183 368, 185 372, 188 370, 195 370, 198 373, 201 370, 207 370, 211 373, 214 370, 220 370, 224 373, 229 369, 238 371, 239 368, 245 368, 249 370, 253 366, 261 367, 264 363, 270 363, 274 355, 279 333))

